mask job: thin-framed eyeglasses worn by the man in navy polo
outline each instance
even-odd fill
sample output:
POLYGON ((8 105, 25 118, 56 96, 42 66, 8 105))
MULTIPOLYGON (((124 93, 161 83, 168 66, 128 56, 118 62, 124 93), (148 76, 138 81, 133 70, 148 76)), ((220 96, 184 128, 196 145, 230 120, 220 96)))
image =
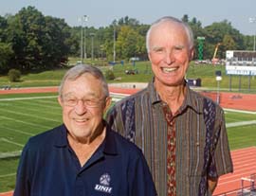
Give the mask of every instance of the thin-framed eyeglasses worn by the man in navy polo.
POLYGON ((79 101, 86 107, 97 108, 100 106, 103 98, 62 98, 64 105, 69 107, 75 107, 78 105, 79 101))

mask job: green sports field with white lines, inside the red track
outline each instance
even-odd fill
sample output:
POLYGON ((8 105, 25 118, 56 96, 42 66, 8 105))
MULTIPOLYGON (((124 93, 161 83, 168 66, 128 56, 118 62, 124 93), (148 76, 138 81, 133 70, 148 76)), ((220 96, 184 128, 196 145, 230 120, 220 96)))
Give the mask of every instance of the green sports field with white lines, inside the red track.
MULTIPOLYGON (((0 192, 15 186, 19 157, 7 156, 22 150, 27 139, 62 123, 62 111, 57 94, 18 94, 0 96, 0 192)), ((254 120, 256 114, 226 112, 227 125, 254 120)), ((228 128, 231 150, 256 146, 256 125, 228 128)))

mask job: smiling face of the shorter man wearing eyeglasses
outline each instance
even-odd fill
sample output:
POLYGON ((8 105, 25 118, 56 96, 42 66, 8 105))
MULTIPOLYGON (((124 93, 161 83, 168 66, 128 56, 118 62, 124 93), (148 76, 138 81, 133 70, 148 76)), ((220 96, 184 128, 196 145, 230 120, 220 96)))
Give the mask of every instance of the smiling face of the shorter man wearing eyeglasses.
POLYGON ((64 82, 59 102, 68 133, 75 140, 84 140, 99 129, 110 98, 104 98, 101 81, 86 73, 64 82))

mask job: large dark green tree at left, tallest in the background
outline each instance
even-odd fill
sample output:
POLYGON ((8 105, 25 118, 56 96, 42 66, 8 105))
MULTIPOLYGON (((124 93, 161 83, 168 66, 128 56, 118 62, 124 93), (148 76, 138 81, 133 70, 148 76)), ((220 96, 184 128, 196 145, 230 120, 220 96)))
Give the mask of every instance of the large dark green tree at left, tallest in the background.
POLYGON ((64 19, 45 17, 34 7, 27 7, 10 16, 8 22, 7 40, 15 54, 12 68, 49 69, 67 61, 70 29, 64 19))

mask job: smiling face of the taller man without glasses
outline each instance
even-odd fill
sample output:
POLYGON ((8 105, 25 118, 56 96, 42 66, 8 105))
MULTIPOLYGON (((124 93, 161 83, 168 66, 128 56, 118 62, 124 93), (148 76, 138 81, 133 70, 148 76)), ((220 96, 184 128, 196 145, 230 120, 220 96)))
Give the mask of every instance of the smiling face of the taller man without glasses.
POLYGON ((183 83, 193 55, 184 27, 166 22, 155 26, 149 49, 155 82, 168 86, 183 83))

